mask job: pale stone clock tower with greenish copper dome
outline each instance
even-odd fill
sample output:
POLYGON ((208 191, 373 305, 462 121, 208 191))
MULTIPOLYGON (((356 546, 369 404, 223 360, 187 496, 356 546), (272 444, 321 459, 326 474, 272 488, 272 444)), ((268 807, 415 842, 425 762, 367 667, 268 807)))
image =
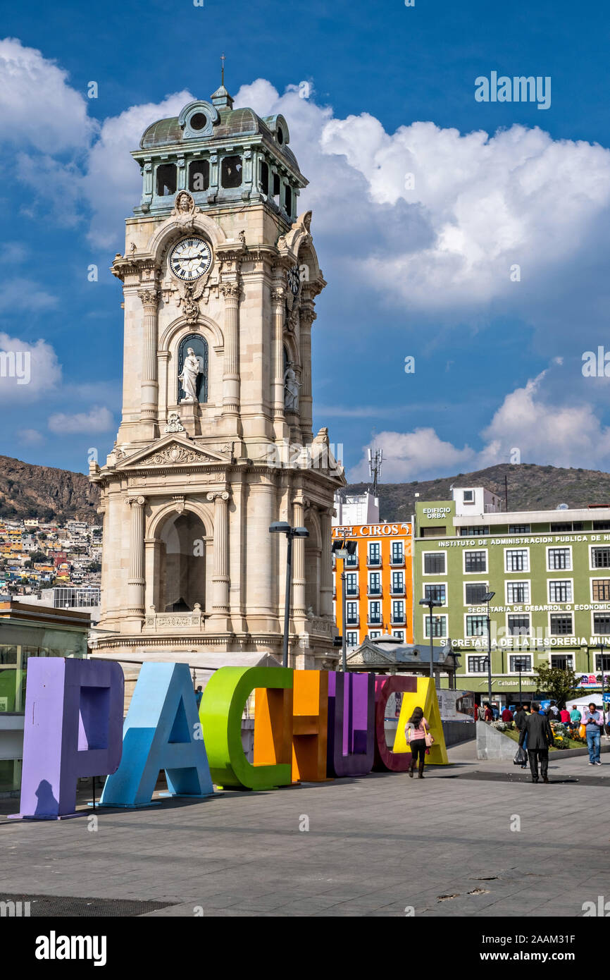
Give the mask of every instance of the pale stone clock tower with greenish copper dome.
POLYGON ((96 648, 280 656, 286 538, 291 658, 334 659, 333 494, 311 428, 315 297, 325 282, 298 215, 306 180, 282 116, 233 109, 224 86, 149 126, 126 221, 122 418, 91 465, 104 519, 96 648))

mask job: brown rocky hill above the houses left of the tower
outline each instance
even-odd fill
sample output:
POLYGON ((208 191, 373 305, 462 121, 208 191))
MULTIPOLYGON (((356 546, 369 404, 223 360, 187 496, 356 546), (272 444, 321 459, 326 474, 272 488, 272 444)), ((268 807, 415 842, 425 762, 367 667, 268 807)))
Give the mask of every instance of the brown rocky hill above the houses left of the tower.
POLYGON ((101 524, 98 488, 84 473, 0 456, 0 517, 86 520, 101 524))

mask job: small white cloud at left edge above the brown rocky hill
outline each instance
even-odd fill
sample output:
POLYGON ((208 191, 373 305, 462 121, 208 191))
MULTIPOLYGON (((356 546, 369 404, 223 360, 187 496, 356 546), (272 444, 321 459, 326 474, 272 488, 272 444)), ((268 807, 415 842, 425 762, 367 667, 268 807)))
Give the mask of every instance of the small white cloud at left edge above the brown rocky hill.
POLYGON ((48 398, 62 380, 62 368, 50 344, 29 344, 0 332, 0 401, 32 402, 48 398), (21 383, 20 383, 21 381, 21 383))

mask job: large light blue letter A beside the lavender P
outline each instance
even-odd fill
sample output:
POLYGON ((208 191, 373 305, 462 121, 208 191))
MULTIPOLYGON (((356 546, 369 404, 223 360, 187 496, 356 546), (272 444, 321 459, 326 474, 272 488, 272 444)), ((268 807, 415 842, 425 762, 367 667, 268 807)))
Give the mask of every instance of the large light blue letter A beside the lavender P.
POLYGON ((188 663, 143 663, 123 727, 122 760, 102 807, 150 805, 159 770, 169 796, 213 793, 188 663))

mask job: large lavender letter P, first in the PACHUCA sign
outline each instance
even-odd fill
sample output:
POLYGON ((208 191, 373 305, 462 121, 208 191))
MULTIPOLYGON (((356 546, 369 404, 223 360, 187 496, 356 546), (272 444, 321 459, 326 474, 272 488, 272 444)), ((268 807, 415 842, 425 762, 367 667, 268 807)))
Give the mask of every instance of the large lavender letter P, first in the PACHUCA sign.
POLYGON ((27 662, 19 816, 73 815, 78 776, 114 772, 124 699, 118 663, 64 657, 27 662))

